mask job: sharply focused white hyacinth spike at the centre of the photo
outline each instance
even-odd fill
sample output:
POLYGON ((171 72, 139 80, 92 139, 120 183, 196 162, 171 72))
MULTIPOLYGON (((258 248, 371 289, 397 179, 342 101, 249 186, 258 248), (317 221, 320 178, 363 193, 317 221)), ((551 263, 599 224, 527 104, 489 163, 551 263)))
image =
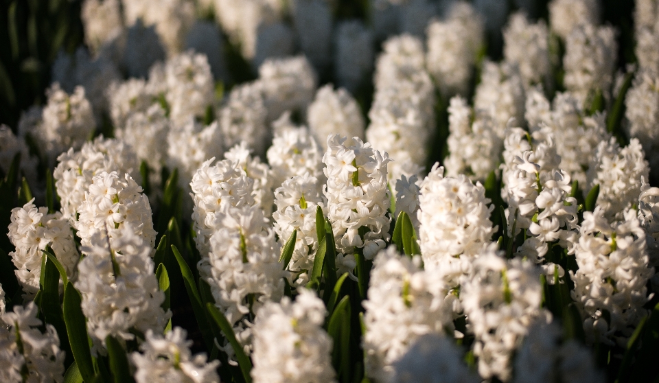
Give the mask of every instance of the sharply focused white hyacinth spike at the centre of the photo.
MULTIPOLYGON (((361 248, 366 259, 373 259, 384 248, 384 241, 389 240, 391 218, 385 216, 391 203, 386 181, 389 161, 386 152, 374 150, 358 137, 327 137, 327 152, 323 156, 327 187, 323 193, 340 253, 349 255, 361 248)), ((344 257, 337 257, 340 267, 344 257)), ((343 270, 351 271, 354 266, 353 261, 343 270)))

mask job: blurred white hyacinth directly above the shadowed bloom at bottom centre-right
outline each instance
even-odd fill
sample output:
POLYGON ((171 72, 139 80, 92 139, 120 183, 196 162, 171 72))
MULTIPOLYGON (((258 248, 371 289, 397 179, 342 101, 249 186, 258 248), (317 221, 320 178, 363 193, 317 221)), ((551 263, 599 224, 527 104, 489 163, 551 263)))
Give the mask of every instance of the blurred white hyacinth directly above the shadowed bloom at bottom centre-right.
POLYGON ((446 285, 395 247, 380 251, 373 262, 363 336, 366 375, 377 382, 395 382, 393 364, 404 358, 419 338, 453 332, 453 304, 446 285))

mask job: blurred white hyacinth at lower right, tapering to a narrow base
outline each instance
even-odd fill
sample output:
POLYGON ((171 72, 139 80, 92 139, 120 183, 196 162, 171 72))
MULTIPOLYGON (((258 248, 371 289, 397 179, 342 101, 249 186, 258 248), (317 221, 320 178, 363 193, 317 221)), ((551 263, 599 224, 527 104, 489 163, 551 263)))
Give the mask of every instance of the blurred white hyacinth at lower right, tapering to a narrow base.
POLYGON ((513 353, 540 309, 542 286, 532 262, 506 260, 492 247, 476 258, 473 272, 463 278, 460 300, 476 340, 474 356, 485 380, 511 378, 513 353))

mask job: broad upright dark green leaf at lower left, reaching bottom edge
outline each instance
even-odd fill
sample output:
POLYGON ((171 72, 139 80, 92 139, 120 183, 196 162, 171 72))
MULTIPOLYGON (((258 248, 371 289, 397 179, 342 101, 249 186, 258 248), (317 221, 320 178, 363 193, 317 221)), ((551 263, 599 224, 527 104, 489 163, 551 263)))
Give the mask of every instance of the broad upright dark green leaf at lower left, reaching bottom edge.
POLYGON ((87 326, 80 303, 78 290, 73 287, 67 288, 64 292, 64 321, 67 326, 67 334, 69 334, 71 353, 76 359, 82 379, 85 382, 91 382, 95 374, 89 349, 87 326))

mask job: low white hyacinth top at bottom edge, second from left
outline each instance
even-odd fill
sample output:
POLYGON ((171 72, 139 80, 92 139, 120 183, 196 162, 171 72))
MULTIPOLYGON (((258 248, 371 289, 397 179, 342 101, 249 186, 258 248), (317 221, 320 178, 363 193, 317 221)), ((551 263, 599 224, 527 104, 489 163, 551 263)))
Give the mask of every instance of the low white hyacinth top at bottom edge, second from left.
POLYGON ((137 383, 220 383, 216 371, 219 360, 207 362, 204 354, 192 355, 192 340, 186 340, 185 329, 174 327, 165 336, 147 330, 141 353, 133 352, 137 383))

